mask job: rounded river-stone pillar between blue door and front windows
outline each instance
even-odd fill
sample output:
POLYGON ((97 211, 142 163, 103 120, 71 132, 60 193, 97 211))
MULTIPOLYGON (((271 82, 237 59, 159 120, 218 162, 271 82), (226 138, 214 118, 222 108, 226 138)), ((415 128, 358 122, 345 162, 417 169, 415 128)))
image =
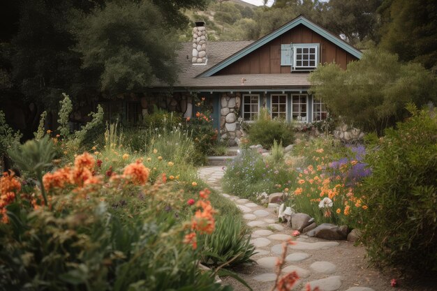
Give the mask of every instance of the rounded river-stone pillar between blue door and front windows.
POLYGON ((241 107, 241 94, 223 93, 220 98, 220 134, 221 142, 228 141, 230 147, 235 146, 242 137, 238 121, 241 107))

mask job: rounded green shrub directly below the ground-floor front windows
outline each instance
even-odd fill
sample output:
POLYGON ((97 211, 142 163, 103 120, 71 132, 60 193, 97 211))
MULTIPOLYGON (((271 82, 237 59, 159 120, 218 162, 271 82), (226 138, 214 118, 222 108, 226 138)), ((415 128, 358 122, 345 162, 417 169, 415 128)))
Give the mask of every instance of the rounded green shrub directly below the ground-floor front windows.
POLYGON ((260 117, 249 130, 251 144, 261 144, 265 149, 272 147, 274 140, 281 144, 292 144, 293 135, 292 124, 279 119, 272 120, 266 108, 260 110, 260 117))

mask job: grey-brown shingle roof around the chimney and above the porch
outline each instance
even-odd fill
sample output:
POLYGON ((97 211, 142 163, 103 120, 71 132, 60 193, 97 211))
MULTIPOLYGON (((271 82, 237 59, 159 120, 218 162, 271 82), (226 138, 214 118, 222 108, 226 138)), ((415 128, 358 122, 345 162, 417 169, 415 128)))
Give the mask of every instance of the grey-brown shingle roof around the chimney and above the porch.
MULTIPOLYGON (((193 65, 191 54, 192 43, 182 43, 178 52, 177 64, 181 71, 174 87, 191 89, 267 89, 267 88, 302 88, 309 87, 307 73, 298 74, 242 74, 242 75, 217 75, 210 77, 196 77, 212 68, 232 54, 243 50, 253 43, 252 40, 244 41, 209 41, 207 43, 208 61, 206 65, 193 65), (187 57, 188 56, 188 57, 187 57), (242 78, 246 81, 242 83, 242 78)), ((156 84, 155 87, 167 87, 165 84, 156 84)))

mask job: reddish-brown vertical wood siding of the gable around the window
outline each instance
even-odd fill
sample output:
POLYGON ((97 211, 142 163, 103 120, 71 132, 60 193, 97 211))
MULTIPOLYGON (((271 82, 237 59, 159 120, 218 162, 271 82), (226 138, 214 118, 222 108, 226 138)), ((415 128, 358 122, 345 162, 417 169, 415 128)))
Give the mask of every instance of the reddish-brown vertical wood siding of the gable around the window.
POLYGON ((258 50, 247 54, 235 63, 223 68, 214 75, 235 74, 274 74, 290 73, 290 66, 281 66, 281 44, 287 43, 320 43, 320 63, 335 61, 341 68, 346 69, 350 61, 357 57, 346 52, 341 47, 334 45, 320 34, 312 31, 302 24, 290 29, 281 36, 262 45, 258 50))

